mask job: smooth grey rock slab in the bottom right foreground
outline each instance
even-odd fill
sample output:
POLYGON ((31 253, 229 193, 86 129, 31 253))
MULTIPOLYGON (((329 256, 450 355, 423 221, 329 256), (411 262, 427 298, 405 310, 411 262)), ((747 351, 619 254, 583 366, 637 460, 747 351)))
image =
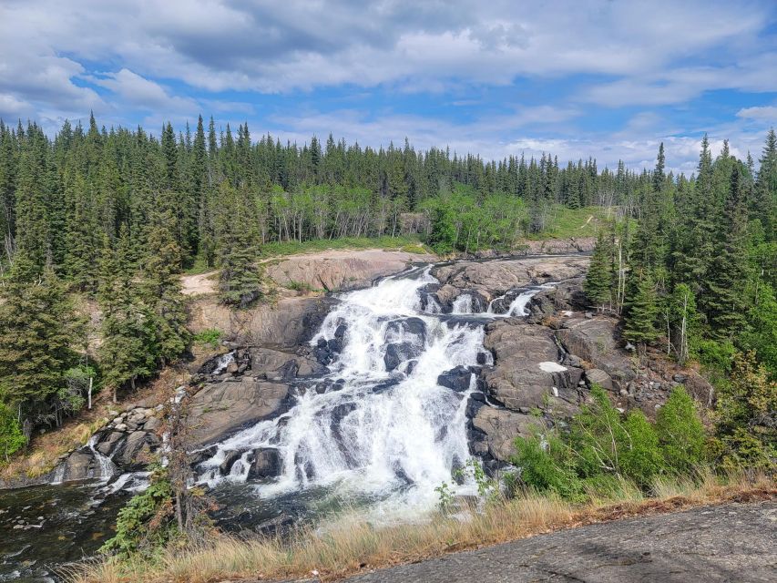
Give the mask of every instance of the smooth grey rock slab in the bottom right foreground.
POLYGON ((349 578, 353 583, 767 583, 777 502, 726 504, 531 537, 349 578))

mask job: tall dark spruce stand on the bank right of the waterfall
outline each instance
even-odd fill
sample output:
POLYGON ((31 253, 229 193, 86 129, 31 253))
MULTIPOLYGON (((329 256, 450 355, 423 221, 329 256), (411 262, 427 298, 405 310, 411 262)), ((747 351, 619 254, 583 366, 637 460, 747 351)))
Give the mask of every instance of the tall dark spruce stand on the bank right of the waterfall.
MULTIPOLYGON (((694 176, 670 179, 659 148, 636 224, 601 230, 588 301, 623 316, 638 353, 699 361, 717 391, 715 456, 777 467, 777 138, 755 172, 705 136, 694 176)), ((712 398, 712 395, 710 395, 712 398)), ((710 402, 709 405, 712 403, 710 402)))

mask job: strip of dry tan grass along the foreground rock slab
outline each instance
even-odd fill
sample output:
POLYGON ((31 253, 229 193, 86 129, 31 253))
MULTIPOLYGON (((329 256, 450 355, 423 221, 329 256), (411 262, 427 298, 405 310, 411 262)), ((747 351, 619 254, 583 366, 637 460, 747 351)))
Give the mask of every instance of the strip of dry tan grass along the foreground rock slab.
POLYGON ((208 583, 224 579, 309 577, 315 569, 321 580, 331 581, 367 568, 412 562, 562 528, 777 496, 774 481, 764 476, 721 480, 711 472, 702 473, 695 484, 664 480, 655 489, 658 496, 654 498, 643 498, 632 491, 625 502, 593 501, 585 506, 552 496, 527 495, 487 505, 481 512, 469 509, 464 520, 435 516, 424 524, 394 527, 373 527, 351 515, 325 529, 301 529, 293 533, 291 540, 220 536, 201 547, 170 549, 153 564, 119 564, 113 560, 91 563, 80 572, 71 573, 71 580, 208 583))

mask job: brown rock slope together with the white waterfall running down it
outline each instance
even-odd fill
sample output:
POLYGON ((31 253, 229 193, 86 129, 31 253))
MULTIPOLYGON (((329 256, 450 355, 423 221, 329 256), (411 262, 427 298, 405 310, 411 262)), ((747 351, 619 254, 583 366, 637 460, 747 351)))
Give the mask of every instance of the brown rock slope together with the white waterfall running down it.
MULTIPOLYGON (((506 467, 516 435, 577 412, 593 383, 648 414, 675 384, 709 391, 658 357, 640 365, 618 322, 587 311, 587 266, 579 254, 418 265, 355 295, 289 298, 231 319, 220 353, 171 397, 186 405, 192 464, 215 488, 221 524, 267 532, 332 511, 338 484, 382 513, 395 496, 434 505, 434 487, 467 457, 506 467)), ((118 409, 41 480, 86 485, 97 493, 89 505, 115 508, 164 447, 166 407, 118 409)), ((38 528, 23 520, 5 526, 38 528)), ((82 541, 84 552, 102 537, 82 541)), ((12 565, 17 551, 0 547, 12 565)))

